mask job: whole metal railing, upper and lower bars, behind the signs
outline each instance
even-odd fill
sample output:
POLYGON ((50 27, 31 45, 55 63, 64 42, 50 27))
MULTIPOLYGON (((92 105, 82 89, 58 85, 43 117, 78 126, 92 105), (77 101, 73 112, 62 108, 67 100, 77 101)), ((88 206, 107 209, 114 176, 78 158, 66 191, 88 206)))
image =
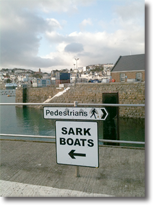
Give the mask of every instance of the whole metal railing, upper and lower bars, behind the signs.
MULTIPOLYGON (((75 105, 74 103, 0 103, 0 106, 59 106, 59 105, 75 105)), ((145 104, 107 104, 107 103, 78 103, 76 101, 76 106, 103 106, 103 107, 145 107, 145 104)), ((41 135, 21 135, 21 134, 0 134, 0 136, 5 137, 29 137, 29 138, 47 138, 55 139, 55 136, 41 136, 41 135)), ((100 142, 108 143, 123 143, 123 144, 139 144, 145 145, 145 142, 141 141, 122 141, 122 140, 106 140, 99 139, 100 142)))

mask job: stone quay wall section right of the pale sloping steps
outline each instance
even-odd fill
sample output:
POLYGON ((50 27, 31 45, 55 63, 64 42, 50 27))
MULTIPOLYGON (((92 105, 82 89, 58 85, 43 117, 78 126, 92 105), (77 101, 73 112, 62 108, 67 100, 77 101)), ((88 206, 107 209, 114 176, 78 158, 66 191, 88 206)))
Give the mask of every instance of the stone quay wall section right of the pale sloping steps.
MULTIPOLYGON (((103 93, 118 92, 119 104, 145 104, 144 83, 76 84, 54 103, 102 103, 103 93)), ((120 117, 145 118, 145 107, 119 107, 120 117)))

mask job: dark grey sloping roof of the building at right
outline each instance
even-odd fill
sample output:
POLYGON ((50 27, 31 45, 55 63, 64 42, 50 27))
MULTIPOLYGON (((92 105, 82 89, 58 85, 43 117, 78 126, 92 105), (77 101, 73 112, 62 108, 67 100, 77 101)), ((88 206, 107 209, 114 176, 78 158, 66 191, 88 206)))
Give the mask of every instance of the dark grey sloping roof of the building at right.
POLYGON ((145 70, 145 54, 120 56, 112 72, 145 70))

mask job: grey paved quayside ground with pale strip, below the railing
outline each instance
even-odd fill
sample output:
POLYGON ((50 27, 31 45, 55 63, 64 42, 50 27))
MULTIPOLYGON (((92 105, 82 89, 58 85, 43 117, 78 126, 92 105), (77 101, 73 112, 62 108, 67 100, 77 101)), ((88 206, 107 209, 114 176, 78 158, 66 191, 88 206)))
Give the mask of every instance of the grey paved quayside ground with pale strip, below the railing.
POLYGON ((99 148, 99 168, 56 164, 54 143, 0 140, 0 196, 144 197, 145 150, 99 148))

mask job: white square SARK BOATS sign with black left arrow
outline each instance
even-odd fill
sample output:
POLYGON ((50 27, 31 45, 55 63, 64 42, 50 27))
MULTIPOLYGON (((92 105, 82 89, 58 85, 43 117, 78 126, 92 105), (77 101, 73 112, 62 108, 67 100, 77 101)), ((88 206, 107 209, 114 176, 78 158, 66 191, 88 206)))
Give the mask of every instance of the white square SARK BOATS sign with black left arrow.
POLYGON ((98 167, 97 122, 56 121, 58 164, 98 167))

